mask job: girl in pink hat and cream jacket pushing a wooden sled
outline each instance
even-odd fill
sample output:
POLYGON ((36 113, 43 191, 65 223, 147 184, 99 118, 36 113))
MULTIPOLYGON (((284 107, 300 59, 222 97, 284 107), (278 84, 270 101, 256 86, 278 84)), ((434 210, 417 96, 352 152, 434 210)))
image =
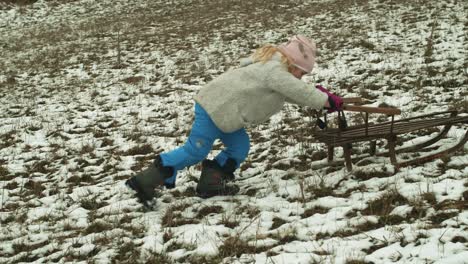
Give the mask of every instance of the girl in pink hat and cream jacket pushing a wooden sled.
POLYGON ((245 127, 260 124, 279 112, 285 102, 315 109, 340 110, 343 100, 321 86, 314 89, 300 79, 312 71, 316 46, 302 35, 279 46, 266 45, 201 88, 195 96, 195 120, 187 142, 158 155, 146 170, 127 180, 148 206, 155 188, 175 186, 178 170, 202 162, 197 193, 202 197, 226 193, 225 182, 249 152, 245 127), (204 160, 213 142, 225 149, 214 160, 204 160))

